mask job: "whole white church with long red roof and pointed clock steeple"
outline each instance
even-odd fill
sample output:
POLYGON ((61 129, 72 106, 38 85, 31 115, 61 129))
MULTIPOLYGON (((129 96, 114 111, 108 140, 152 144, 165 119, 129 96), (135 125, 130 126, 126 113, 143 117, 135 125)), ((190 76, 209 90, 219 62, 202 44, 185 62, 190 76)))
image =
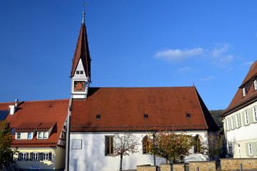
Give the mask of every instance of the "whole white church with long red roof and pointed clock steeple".
POLYGON ((139 152, 124 157, 123 168, 129 170, 165 162, 143 150, 143 139, 159 128, 183 131, 199 144, 208 143, 208 131, 218 130, 195 86, 91 88, 90 66, 83 19, 71 67, 69 170, 119 170, 120 159, 114 157, 116 134, 138 138, 139 152))

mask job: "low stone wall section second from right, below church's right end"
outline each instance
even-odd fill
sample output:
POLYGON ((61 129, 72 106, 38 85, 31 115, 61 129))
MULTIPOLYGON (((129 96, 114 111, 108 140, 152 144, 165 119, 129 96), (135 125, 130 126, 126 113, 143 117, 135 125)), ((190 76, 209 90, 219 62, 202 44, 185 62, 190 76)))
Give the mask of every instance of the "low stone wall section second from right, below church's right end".
POLYGON ((197 170, 197 167, 201 171, 216 170, 216 162, 189 162, 189 170, 197 170))

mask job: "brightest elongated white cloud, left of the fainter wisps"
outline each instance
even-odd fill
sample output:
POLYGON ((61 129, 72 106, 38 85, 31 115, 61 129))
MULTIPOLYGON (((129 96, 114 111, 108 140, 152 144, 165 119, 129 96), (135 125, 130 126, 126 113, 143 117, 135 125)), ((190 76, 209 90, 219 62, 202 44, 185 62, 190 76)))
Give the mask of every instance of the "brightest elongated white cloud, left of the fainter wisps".
POLYGON ((193 48, 193 49, 168 49, 166 51, 159 51, 156 53, 156 58, 162 58, 164 61, 171 63, 177 63, 184 61, 187 58, 192 58, 194 56, 200 56, 203 54, 203 48, 193 48))

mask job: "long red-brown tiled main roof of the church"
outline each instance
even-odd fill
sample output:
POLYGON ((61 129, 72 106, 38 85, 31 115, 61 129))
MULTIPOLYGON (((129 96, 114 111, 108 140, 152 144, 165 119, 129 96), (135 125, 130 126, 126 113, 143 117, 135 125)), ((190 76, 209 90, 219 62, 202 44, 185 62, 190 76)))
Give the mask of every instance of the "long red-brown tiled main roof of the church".
POLYGON ((86 100, 73 100, 71 132, 216 130, 194 86, 166 88, 89 88, 86 100), (186 117, 186 113, 191 118, 186 117), (144 118, 148 115, 148 119, 144 118), (100 119, 96 119, 100 115, 100 119), (208 120, 206 120, 208 118, 208 120))

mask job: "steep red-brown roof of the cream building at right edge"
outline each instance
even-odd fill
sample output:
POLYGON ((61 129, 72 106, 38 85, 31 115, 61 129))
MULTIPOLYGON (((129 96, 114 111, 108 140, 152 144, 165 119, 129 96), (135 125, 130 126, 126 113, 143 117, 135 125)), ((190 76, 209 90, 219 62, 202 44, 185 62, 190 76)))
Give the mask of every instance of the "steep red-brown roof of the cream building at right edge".
POLYGON ((233 100, 228 105, 228 108, 224 110, 221 117, 229 115, 230 113, 235 112, 236 110, 243 108, 246 105, 249 105, 257 100, 257 91, 254 90, 253 81, 256 80, 257 77, 257 61, 251 65, 249 72, 244 78, 243 83, 238 88, 236 95, 233 97, 233 100), (243 97, 243 90, 244 86, 248 85, 248 90, 246 96, 243 97))

